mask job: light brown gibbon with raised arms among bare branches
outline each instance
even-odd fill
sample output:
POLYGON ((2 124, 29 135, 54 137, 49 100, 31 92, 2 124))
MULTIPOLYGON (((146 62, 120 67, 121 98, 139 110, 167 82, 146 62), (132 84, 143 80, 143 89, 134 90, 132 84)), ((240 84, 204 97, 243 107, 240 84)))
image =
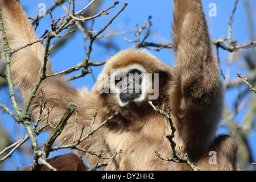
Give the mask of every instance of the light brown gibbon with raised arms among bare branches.
MULTIPOLYGON (((1 0, 0 7, 11 49, 37 39, 18 1, 1 0)), ((60 121, 68 103, 77 105, 77 138, 82 127, 84 131, 89 129, 97 108, 92 130, 117 113, 78 146, 88 151, 102 150, 102 156, 108 158, 122 150, 122 154, 110 160, 105 170, 190 170, 185 163, 168 162, 155 155, 158 151, 163 157, 172 156, 170 141, 166 138, 172 130, 168 119, 157 113, 148 101, 159 108, 165 104, 165 109, 171 107, 170 115, 176 127, 173 140, 178 154, 182 147, 181 152, 188 155, 189 161, 204 170, 239 169, 236 140, 228 135, 216 136, 224 105, 224 88, 201 1, 174 0, 173 17, 174 68, 144 49, 128 48, 110 58, 91 92, 73 88, 64 76, 46 78, 32 100, 32 115, 35 118, 39 115, 40 89, 44 90, 43 100, 47 101, 47 106, 55 105, 48 118, 53 126, 60 121), (216 152, 216 164, 209 163, 210 151, 216 152)), ((25 101, 36 84, 43 56, 44 47, 35 43, 11 57, 13 82, 25 101)), ((46 74, 52 74, 49 61, 46 74)), ((75 120, 76 116, 72 114, 57 138, 59 142, 72 143, 75 120)), ((46 122, 44 118, 40 125, 46 125, 46 122)), ((52 130, 49 127, 49 133, 52 130)), ((85 135, 83 132, 82 137, 85 135)), ((89 165, 107 160, 99 160, 98 156, 87 152, 77 151, 77 154, 82 155, 89 165)), ((73 155, 70 158, 64 155, 59 166, 61 163, 67 166, 59 169, 75 169, 68 167, 73 159, 73 155)), ((73 160, 77 166, 80 162, 73 160)))

